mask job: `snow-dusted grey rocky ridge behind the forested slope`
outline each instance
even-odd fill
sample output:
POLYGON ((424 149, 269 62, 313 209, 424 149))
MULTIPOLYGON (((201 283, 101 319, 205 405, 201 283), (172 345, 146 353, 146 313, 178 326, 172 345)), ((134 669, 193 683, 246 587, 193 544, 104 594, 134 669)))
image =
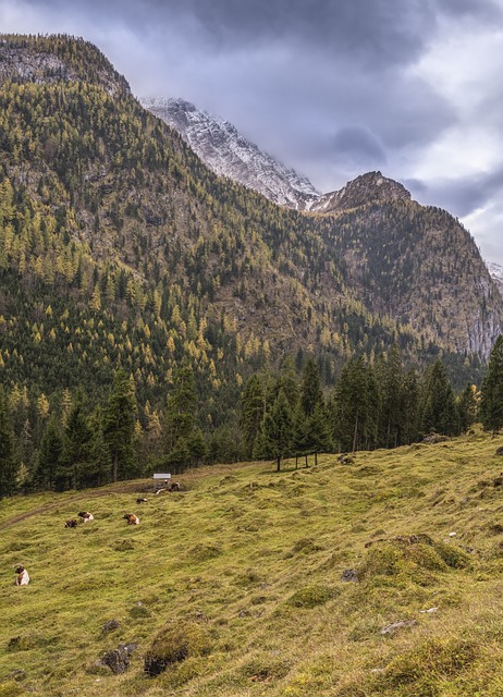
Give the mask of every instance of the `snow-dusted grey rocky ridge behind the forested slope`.
POLYGON ((320 194, 304 176, 287 169, 241 135, 236 129, 183 99, 140 99, 142 105, 170 126, 217 174, 253 188, 275 204, 309 208, 320 194))

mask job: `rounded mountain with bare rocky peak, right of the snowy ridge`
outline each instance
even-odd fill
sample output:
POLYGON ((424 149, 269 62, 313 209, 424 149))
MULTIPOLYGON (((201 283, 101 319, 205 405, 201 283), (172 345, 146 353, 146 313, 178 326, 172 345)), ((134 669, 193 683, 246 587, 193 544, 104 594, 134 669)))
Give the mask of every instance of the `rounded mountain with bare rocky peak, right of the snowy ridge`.
POLYGON ((502 332, 503 299, 469 232, 421 206, 400 183, 368 172, 327 194, 324 241, 347 265, 372 314, 389 315, 459 352, 487 357, 502 332))

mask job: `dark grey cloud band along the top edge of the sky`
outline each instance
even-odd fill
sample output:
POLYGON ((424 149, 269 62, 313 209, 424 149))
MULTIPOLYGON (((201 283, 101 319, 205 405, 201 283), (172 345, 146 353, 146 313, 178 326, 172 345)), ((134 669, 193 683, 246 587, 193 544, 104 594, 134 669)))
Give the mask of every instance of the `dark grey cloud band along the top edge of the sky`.
POLYGON ((368 70, 410 62, 437 24, 431 0, 47 0, 45 4, 63 14, 71 9, 98 22, 122 22, 137 33, 147 26, 165 33, 182 24, 192 39, 208 42, 214 51, 271 40, 315 50, 323 46, 327 56, 351 56, 368 70))

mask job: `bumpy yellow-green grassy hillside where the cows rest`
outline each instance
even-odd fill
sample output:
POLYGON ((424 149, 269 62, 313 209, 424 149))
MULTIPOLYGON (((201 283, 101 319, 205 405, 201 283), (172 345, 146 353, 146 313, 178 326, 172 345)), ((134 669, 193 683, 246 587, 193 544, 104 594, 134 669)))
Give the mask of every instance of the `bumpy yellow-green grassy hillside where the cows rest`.
POLYGON ((0 695, 501 695, 501 444, 199 469, 142 506, 148 481, 4 500, 0 695), (65 529, 79 510, 96 519, 65 529), (187 657, 149 677, 161 631, 187 657), (121 641, 114 675, 97 660, 121 641))

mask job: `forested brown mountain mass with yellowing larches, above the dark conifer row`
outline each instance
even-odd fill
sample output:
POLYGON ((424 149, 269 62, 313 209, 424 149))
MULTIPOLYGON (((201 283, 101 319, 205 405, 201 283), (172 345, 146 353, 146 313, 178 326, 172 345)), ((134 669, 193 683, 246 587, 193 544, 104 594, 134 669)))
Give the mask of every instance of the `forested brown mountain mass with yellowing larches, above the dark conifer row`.
POLYGON ((9 390, 97 396, 122 366, 147 409, 188 363, 214 427, 286 354, 314 354, 328 386, 351 356, 395 344, 408 365, 441 354, 458 386, 478 375, 501 298, 447 213, 392 195, 389 180, 347 185, 330 213, 277 206, 208 169, 93 45, 1 41, 9 390))

